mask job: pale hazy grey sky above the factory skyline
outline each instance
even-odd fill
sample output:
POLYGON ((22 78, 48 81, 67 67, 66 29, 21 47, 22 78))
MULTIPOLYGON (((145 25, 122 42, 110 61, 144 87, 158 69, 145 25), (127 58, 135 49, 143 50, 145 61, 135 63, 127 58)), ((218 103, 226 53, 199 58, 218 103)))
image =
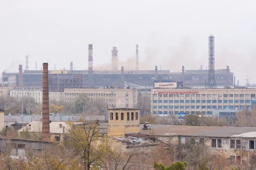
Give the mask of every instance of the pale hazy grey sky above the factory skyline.
MULTIPOLYGON (((88 68, 93 44, 95 69, 110 69, 118 49, 119 68, 181 71, 208 68, 208 36, 215 36, 215 68, 246 75, 256 83, 256 0, 0 0, 0 72, 88 68)), ((1 77, 1 76, 0 76, 1 77)))

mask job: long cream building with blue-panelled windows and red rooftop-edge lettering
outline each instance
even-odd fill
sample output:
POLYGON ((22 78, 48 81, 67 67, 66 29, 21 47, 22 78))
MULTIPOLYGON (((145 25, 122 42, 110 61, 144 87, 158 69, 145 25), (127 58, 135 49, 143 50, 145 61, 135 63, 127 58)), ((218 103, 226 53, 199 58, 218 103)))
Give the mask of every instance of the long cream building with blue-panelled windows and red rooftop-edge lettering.
POLYGON ((256 88, 154 88, 151 89, 151 113, 167 116, 199 111, 212 115, 213 110, 239 110, 252 106, 256 88))

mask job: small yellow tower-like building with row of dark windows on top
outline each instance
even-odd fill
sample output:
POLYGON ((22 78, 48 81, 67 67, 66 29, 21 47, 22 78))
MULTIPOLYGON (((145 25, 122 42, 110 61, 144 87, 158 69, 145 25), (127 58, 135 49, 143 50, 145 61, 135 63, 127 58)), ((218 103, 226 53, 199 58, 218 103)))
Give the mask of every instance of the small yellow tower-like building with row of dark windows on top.
POLYGON ((140 109, 108 109, 108 136, 140 132, 140 109))

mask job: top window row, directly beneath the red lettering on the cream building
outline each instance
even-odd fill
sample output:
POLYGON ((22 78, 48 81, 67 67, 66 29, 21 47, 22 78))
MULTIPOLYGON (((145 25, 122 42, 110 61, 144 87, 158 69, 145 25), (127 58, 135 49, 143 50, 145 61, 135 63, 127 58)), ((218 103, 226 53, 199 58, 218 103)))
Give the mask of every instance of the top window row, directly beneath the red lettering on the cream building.
MULTIPOLYGON (((158 97, 179 97, 179 95, 180 95, 180 97, 207 97, 207 98, 210 98, 210 97, 233 97, 233 96, 235 96, 235 97, 255 97, 255 94, 158 94, 158 97)), ((157 97, 157 94, 153 94, 153 97, 155 98, 155 97, 157 97)))

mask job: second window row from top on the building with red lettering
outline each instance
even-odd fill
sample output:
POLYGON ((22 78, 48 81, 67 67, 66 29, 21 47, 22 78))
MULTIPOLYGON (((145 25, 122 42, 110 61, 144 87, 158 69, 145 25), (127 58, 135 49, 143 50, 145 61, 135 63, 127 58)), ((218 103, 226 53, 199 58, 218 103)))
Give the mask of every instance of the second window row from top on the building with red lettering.
POLYGON ((153 103, 250 103, 250 100, 153 100, 153 103))

